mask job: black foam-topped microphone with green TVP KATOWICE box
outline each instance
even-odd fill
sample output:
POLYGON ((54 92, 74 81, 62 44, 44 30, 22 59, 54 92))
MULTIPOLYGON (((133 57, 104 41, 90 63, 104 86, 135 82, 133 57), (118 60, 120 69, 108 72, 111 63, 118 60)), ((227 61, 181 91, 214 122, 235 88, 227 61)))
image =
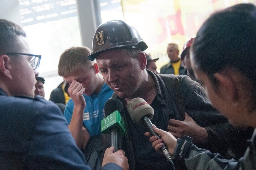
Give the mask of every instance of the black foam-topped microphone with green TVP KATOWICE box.
POLYGON ((101 133, 111 134, 111 146, 114 152, 118 150, 117 134, 125 135, 126 127, 120 113, 123 113, 123 103, 118 99, 109 99, 105 105, 105 118, 101 120, 101 133))

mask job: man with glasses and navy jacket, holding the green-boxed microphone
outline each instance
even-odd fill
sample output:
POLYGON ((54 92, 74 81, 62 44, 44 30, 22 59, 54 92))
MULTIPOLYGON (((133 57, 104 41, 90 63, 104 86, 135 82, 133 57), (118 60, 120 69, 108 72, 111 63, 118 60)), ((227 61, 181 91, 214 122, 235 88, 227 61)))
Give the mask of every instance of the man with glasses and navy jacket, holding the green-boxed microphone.
MULTIPOLYGON (((34 97, 40 59, 23 29, 0 19, 0 169, 90 169, 60 109, 34 97)), ((128 169, 124 152, 113 150, 102 169, 128 169)))

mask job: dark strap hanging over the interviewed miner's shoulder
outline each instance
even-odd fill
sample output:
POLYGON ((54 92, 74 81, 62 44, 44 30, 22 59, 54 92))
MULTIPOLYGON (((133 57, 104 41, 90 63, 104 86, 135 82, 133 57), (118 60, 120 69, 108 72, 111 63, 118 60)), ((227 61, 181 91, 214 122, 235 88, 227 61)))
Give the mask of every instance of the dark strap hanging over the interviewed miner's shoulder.
MULTIPOLYGON (((168 77, 168 76, 161 76, 161 74, 159 74, 159 76, 162 78, 163 82, 165 83, 169 93, 172 93, 171 85, 173 82, 174 89, 176 91, 176 95, 175 95, 176 102, 175 103, 177 105, 181 120, 183 121, 185 119, 185 106, 184 106, 183 94, 182 94, 182 90, 181 90, 181 84, 180 84, 180 80, 179 80, 180 76, 175 76, 175 78, 168 77)), ((167 103, 170 103, 170 99, 168 97, 165 97, 165 100, 167 103)), ((167 106, 169 107, 170 105, 167 104, 167 106)))

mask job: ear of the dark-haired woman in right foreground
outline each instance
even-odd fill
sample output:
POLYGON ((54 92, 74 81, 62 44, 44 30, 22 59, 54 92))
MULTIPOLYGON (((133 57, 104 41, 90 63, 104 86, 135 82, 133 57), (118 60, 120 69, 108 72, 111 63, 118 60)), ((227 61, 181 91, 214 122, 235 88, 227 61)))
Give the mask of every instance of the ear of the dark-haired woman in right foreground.
POLYGON ((233 104, 236 103, 238 100, 238 94, 236 83, 233 82, 233 79, 225 73, 215 73, 214 77, 218 81, 219 95, 233 104))

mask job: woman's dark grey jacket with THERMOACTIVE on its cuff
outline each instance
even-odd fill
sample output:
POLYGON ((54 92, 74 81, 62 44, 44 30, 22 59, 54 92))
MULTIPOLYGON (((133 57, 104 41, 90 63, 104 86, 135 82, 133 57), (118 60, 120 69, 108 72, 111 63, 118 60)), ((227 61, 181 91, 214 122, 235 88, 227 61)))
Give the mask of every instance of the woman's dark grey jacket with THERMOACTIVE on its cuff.
POLYGON ((209 150, 204 150, 196 147, 191 141, 186 141, 186 137, 178 139, 174 162, 184 162, 187 169, 191 170, 206 170, 206 169, 256 169, 256 129, 250 140, 248 140, 248 148, 245 154, 238 161, 234 159, 224 159, 218 153, 211 153, 209 150), (181 146, 182 151, 181 151, 181 146), (182 153, 182 154, 180 154, 182 153))

